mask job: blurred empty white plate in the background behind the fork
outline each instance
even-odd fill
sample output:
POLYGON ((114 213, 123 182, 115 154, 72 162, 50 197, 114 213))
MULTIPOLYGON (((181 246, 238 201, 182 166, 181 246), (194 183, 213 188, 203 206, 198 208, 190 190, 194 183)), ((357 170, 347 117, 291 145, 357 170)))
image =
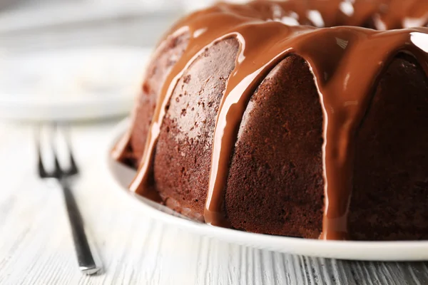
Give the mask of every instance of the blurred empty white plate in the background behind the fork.
POLYGON ((151 55, 93 47, 0 53, 0 118, 89 120, 129 112, 151 55))

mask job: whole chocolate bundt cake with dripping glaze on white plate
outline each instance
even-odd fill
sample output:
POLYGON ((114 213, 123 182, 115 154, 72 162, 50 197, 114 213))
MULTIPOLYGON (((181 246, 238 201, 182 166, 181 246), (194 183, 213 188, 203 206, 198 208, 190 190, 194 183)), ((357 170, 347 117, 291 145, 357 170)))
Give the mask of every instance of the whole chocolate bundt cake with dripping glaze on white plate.
POLYGON ((176 24, 113 150, 193 219, 428 239, 428 1, 219 3, 176 24), (419 26, 419 27, 414 27, 419 26))

